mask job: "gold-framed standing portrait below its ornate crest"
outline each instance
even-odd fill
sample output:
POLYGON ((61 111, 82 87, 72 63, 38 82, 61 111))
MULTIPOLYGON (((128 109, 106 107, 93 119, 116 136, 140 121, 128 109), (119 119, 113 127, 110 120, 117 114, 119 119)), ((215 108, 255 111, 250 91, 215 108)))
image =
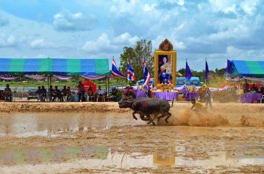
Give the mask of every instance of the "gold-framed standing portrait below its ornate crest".
POLYGON ((154 87, 171 84, 176 87, 176 51, 155 51, 154 87))

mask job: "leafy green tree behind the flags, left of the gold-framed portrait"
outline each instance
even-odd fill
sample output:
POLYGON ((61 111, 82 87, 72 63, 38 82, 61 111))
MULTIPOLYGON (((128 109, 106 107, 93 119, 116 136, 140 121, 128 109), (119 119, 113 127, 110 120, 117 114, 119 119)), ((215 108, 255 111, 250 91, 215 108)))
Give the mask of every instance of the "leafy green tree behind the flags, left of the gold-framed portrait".
POLYGON ((147 64, 147 69, 151 76, 154 75, 154 53, 151 41, 140 40, 134 47, 124 47, 124 53, 120 55, 120 69, 122 73, 127 73, 127 62, 131 64, 137 80, 143 79, 143 61, 147 64))

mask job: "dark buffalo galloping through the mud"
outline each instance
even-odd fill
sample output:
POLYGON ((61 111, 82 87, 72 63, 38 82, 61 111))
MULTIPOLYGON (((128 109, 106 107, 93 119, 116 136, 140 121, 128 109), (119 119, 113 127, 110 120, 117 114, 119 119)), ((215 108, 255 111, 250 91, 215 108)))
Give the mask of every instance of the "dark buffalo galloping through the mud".
POLYGON ((158 121, 166 116, 165 121, 168 123, 167 119, 172 115, 169 111, 170 107, 173 106, 173 101, 172 106, 170 106, 169 102, 162 98, 122 98, 118 105, 120 108, 131 108, 134 119, 137 120, 135 114, 140 114, 140 119, 150 121, 150 123, 156 125, 153 119, 151 119, 150 114, 157 115, 160 113, 161 116, 158 116, 158 121))

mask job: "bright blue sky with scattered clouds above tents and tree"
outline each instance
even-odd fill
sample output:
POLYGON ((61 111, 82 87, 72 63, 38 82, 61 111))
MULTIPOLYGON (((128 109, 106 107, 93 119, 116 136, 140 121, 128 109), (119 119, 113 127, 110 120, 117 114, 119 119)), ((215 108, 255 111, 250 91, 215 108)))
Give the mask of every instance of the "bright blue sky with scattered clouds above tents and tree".
POLYGON ((168 38, 177 69, 264 60, 261 0, 1 0, 1 58, 111 58, 168 38))

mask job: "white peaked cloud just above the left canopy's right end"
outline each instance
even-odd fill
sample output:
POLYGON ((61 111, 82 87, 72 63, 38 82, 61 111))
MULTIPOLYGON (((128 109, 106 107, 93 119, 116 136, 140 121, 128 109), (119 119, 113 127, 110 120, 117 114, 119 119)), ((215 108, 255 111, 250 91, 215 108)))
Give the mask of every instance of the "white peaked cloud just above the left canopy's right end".
POLYGON ((97 38, 97 40, 86 42, 81 49, 86 53, 100 53, 105 51, 113 53, 117 51, 117 46, 111 44, 108 35, 103 33, 97 38))

